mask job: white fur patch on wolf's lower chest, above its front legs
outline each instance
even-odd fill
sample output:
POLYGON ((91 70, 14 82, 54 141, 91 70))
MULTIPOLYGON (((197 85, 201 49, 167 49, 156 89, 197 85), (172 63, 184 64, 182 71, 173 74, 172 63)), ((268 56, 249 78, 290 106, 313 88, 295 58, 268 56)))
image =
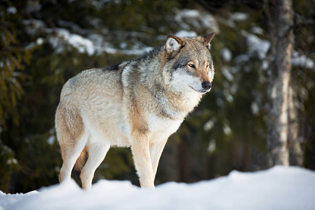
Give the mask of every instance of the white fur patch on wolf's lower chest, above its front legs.
POLYGON ((166 140, 172 133, 177 131, 182 121, 182 119, 170 119, 150 114, 148 118, 149 131, 151 134, 150 142, 151 140, 166 140))

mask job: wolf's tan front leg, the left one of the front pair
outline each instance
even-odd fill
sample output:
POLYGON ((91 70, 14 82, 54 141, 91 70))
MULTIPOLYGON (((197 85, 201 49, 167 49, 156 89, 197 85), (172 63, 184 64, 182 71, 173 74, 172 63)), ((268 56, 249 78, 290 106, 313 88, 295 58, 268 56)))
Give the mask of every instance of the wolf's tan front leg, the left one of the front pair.
POLYGON ((141 187, 154 188, 153 169, 149 151, 149 139, 146 134, 139 132, 136 132, 132 138, 131 151, 141 187))

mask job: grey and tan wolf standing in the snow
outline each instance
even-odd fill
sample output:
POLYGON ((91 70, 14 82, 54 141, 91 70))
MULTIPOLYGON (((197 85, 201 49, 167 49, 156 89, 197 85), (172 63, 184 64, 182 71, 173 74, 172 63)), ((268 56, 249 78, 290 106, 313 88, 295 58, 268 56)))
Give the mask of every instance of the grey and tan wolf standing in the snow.
POLYGON ((154 178, 167 138, 209 92, 215 34, 169 35, 143 58, 93 68, 63 86, 55 125, 63 164, 60 183, 80 171, 90 190, 94 172, 111 146, 131 147, 141 187, 154 178))

